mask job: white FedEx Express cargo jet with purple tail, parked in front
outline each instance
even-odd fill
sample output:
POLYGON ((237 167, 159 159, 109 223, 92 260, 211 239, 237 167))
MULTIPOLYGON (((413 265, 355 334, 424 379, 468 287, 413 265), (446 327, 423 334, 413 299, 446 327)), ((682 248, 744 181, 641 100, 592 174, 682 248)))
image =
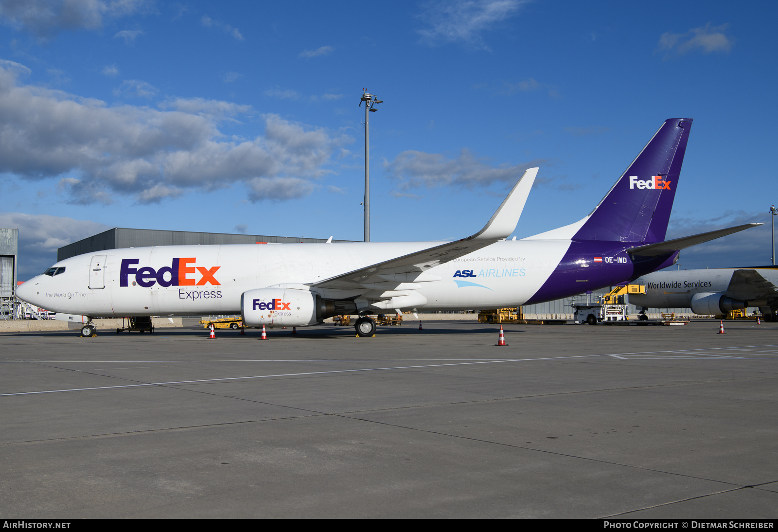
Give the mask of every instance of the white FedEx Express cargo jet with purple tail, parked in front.
POLYGON ((524 172, 483 229, 454 242, 231 244, 105 250, 71 257, 17 296, 89 317, 241 313, 247 326, 303 327, 391 310, 472 310, 541 303, 675 264, 678 250, 759 224, 664 241, 692 127, 664 121, 600 204, 578 222, 521 240, 538 168, 524 172))

